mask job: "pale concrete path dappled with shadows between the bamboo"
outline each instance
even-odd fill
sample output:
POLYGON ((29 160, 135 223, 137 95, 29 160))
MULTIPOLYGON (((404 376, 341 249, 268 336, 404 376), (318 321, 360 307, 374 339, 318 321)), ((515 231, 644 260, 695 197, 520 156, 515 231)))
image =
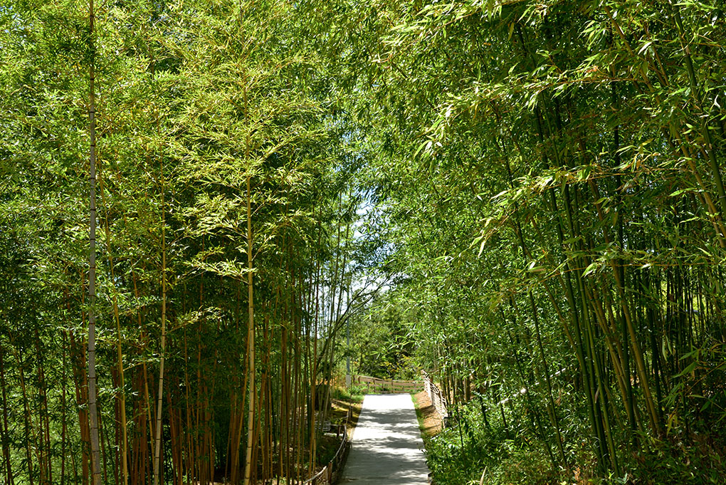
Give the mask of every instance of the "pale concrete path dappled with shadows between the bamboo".
POLYGON ((368 394, 341 484, 427 485, 416 410, 409 394, 368 394))

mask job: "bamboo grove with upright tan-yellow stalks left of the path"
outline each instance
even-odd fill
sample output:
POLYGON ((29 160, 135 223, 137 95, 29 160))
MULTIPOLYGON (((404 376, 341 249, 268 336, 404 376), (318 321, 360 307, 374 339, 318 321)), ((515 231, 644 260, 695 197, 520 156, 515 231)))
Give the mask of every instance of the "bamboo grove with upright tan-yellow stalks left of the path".
POLYGON ((348 291, 346 123, 300 16, 0 7, 2 483, 317 468, 335 334, 370 292, 348 291))

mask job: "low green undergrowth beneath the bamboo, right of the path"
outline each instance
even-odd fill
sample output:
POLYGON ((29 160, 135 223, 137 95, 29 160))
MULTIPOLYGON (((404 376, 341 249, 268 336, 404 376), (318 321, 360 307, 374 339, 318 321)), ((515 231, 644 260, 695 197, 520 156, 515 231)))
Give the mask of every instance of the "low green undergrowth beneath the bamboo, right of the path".
MULTIPOLYGON (((484 420, 482 406, 470 402, 459 412, 450 410, 448 425, 437 436, 425 437, 428 466, 436 485, 723 485, 726 484, 725 433, 711 430, 671 430, 665 439, 637 436, 637 452, 629 451, 621 437, 619 473, 596 470, 595 453, 578 439, 589 430, 578 417, 564 431, 566 464, 553 465, 547 444, 534 433, 534 420, 526 412, 507 409, 507 427, 498 413, 484 420), (486 423, 486 424, 484 424, 486 423), (606 478, 601 478, 605 476, 606 478)), ((570 416, 573 418, 574 416, 570 416)), ((720 430, 722 431, 722 430, 720 430)))

